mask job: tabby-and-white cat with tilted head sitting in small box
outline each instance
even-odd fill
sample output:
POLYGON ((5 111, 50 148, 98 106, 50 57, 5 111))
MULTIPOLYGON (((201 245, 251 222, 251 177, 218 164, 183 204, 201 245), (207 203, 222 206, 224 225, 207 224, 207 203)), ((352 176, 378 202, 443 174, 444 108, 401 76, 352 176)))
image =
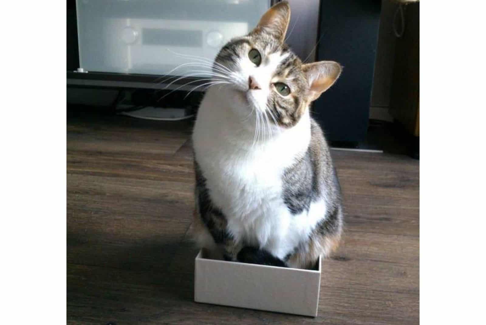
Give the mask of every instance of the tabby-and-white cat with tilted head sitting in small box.
POLYGON ((341 238, 341 188, 309 105, 336 81, 333 61, 303 64, 284 38, 288 2, 217 54, 192 134, 193 235, 211 258, 311 268, 341 238))

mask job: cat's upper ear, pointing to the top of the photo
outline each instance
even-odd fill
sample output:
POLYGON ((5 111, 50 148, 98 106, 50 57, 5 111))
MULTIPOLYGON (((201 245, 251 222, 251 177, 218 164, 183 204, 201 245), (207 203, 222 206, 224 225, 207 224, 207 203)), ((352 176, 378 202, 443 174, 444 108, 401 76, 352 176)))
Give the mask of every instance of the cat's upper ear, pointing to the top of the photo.
POLYGON ((290 5, 287 1, 278 2, 260 18, 257 27, 250 33, 267 33, 283 43, 290 22, 290 5))

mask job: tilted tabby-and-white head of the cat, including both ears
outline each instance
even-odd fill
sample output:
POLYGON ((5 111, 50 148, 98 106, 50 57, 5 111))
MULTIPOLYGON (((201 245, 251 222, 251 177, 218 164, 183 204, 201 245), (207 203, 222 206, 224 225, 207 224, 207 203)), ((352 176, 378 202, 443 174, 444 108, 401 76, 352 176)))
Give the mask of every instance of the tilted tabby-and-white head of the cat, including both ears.
POLYGON ((246 115, 257 109, 282 127, 294 126, 341 73, 333 61, 302 63, 284 42, 289 20, 288 2, 278 2, 248 35, 229 41, 213 66, 215 73, 229 74, 237 109, 248 108, 246 115))

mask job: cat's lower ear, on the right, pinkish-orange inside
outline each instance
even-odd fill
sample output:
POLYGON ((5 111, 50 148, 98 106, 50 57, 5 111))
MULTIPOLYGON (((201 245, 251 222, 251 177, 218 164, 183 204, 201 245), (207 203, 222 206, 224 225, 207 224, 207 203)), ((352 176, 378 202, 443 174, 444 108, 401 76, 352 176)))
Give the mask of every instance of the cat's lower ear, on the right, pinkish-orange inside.
POLYGON ((303 64, 302 71, 309 82, 309 99, 314 101, 334 84, 341 74, 341 65, 334 61, 319 61, 303 64))

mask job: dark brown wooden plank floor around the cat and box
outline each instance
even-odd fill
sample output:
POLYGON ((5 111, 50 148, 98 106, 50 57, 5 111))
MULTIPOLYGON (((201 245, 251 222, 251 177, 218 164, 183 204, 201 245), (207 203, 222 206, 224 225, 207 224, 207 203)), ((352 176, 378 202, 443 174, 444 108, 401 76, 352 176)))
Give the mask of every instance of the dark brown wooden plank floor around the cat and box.
POLYGON ((68 324, 418 324, 418 161, 332 151, 346 234, 301 317, 194 303, 191 123, 67 122, 68 324))

